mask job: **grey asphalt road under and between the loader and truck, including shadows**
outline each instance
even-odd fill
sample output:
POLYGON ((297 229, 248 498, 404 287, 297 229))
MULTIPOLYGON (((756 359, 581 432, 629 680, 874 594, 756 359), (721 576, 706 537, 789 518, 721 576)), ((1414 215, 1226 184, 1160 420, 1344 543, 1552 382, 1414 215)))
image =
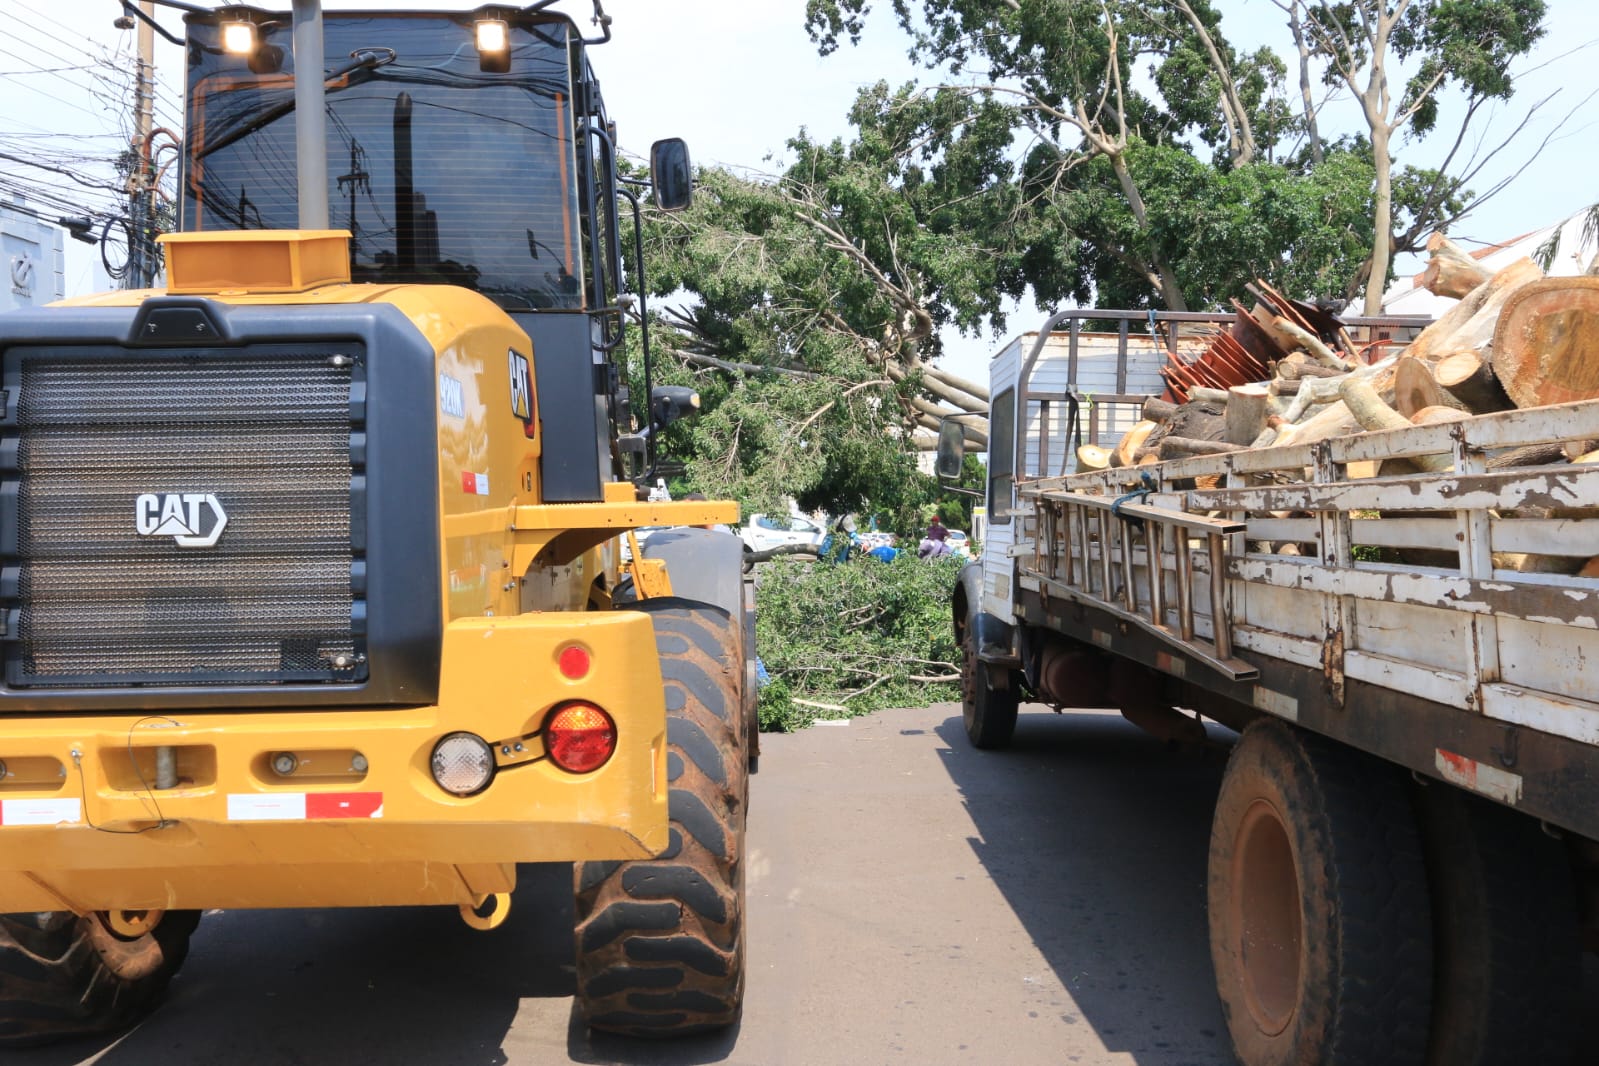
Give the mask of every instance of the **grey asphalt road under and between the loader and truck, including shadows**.
POLYGON ((577 1024, 569 873, 540 866, 492 933, 422 908, 211 914, 139 1029, 5 1061, 1222 1066, 1204 863, 1223 758, 1092 711, 1025 713, 1017 750, 979 753, 948 703, 764 738, 748 994, 721 1037, 577 1024))

